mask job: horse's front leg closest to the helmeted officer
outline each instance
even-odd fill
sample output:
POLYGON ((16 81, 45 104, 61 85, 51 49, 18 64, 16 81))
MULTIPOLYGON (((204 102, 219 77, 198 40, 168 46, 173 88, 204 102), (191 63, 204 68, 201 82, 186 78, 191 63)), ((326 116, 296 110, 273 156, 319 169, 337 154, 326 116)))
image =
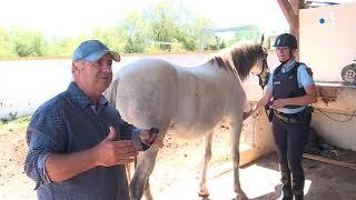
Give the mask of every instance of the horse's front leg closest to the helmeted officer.
POLYGON ((240 180, 239 180, 239 143, 240 143, 240 134, 243 129, 243 119, 234 120, 231 123, 233 132, 231 132, 231 156, 233 156, 233 168, 234 168, 234 191, 236 192, 237 200, 247 200, 247 196, 241 189, 240 180))

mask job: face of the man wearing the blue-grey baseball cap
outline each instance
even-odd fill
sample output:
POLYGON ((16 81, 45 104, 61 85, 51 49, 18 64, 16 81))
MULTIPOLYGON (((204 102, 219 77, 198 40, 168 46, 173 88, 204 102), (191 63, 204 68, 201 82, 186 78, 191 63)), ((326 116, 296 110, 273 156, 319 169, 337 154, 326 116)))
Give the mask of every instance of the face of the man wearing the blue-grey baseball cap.
POLYGON ((110 53, 102 56, 97 62, 80 61, 78 79, 86 91, 102 93, 112 80, 112 59, 110 53))

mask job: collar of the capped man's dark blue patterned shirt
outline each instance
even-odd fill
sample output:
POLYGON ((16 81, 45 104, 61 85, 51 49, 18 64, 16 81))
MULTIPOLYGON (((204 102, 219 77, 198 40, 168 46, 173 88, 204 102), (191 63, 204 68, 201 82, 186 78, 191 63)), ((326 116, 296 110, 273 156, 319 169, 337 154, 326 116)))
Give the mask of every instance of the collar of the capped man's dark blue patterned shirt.
MULTIPOLYGON (((87 107, 92 104, 89 97, 76 84, 76 82, 71 82, 67 91, 71 94, 71 97, 79 106, 87 107)), ((98 99, 98 103, 99 106, 107 107, 108 100, 101 94, 98 99)))

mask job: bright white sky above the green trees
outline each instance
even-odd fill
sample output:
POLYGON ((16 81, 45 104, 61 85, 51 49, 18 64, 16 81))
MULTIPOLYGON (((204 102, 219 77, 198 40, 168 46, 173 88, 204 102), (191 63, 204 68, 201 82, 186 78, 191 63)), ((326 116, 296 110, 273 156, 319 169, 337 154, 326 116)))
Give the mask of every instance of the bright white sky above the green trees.
MULTIPOLYGON (((22 27, 47 36, 87 34, 110 27, 128 12, 141 12, 165 0, 2 0, 0 27, 22 27)), ((172 0, 169 0, 172 1, 172 0)), ((277 0, 174 0, 195 17, 210 19, 216 28, 255 24, 263 32, 288 30, 277 0)), ((356 1, 338 0, 336 2, 356 1)))

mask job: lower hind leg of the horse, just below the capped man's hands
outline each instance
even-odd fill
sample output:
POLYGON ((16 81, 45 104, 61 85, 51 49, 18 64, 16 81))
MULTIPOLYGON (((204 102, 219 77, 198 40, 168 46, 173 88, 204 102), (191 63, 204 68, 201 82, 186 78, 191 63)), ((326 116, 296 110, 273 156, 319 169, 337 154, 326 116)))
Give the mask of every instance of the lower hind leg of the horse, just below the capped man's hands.
MULTIPOLYGON (((148 150, 140 152, 137 157, 137 166, 135 169, 135 174, 130 182, 130 196, 131 200, 140 200, 144 194, 144 189, 147 191, 146 198, 152 199, 149 192, 149 188, 145 188, 148 182, 148 178, 151 174, 156 158, 158 153, 158 147, 152 146, 148 150)), ((149 187, 149 183, 147 184, 149 187)))

